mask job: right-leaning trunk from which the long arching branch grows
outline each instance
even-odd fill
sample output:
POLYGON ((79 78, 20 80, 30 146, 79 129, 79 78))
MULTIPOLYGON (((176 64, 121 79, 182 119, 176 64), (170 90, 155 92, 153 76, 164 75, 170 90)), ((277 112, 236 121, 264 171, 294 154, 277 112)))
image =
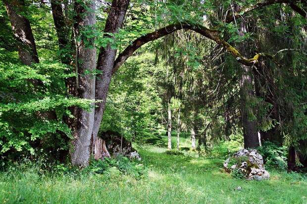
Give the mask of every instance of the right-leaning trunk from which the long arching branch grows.
MULTIPOLYGON (((116 33, 122 27, 124 17, 130 0, 113 0, 108 14, 104 32, 116 33)), ((113 38, 113 37, 111 37, 113 38)), ((101 48, 98 56, 97 69, 102 71, 96 80, 96 100, 102 100, 96 103, 98 106, 95 110, 95 123, 93 128, 93 141, 96 140, 97 134, 102 121, 103 112, 105 109, 106 96, 109 89, 109 84, 112 77, 112 69, 116 56, 116 49, 111 48, 108 44, 105 48, 101 48)))

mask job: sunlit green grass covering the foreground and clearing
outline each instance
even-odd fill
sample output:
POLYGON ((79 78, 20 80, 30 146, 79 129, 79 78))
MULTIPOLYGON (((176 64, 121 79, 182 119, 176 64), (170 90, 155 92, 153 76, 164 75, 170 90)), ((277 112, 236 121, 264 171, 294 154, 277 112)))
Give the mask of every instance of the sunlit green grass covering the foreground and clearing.
MULTIPOLYGON (((181 146, 189 147, 189 139, 182 138, 181 146)), ((149 169, 141 179, 119 174, 46 175, 34 167, 1 172, 0 203, 307 204, 307 179, 302 174, 270 171, 270 180, 239 180, 221 169, 222 159, 165 151, 155 146, 139 150, 149 169), (234 190, 237 186, 242 191, 234 190)))

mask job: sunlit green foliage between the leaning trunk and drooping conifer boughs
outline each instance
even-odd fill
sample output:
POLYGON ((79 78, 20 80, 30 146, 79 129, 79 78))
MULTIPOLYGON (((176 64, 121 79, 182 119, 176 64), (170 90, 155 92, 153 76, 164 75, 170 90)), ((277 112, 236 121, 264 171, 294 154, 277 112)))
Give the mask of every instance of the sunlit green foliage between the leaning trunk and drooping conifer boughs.
POLYGON ((161 99, 153 73, 154 56, 132 57, 110 84, 101 130, 114 130, 137 143, 157 140, 161 126, 161 99))

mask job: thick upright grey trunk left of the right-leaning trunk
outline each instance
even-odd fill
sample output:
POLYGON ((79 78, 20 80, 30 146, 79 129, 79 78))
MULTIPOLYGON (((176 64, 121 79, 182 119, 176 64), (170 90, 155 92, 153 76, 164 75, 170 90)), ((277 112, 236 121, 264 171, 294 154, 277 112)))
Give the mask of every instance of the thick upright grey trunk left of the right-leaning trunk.
MULTIPOLYGON (((78 70, 78 96, 82 99, 95 99, 95 77, 91 74, 96 68, 95 38, 88 38, 82 34, 83 29, 88 29, 96 24, 95 0, 84 3, 75 2, 74 32, 80 41, 77 41, 77 70, 78 70)), ((94 103, 92 104, 94 107, 94 103)), ((77 124, 74 131, 73 152, 71 162, 74 165, 86 166, 89 163, 91 152, 91 136, 94 125, 94 108, 87 111, 82 108, 77 110, 77 124)))

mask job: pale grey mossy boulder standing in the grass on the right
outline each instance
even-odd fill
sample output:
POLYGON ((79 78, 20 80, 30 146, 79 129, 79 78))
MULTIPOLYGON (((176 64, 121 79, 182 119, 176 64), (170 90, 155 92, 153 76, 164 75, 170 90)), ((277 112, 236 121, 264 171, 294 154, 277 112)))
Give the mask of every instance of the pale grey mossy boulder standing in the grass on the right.
POLYGON ((228 172, 237 171, 249 180, 262 180, 270 177, 264 169, 262 156, 257 150, 242 149, 228 158, 224 163, 228 172))

